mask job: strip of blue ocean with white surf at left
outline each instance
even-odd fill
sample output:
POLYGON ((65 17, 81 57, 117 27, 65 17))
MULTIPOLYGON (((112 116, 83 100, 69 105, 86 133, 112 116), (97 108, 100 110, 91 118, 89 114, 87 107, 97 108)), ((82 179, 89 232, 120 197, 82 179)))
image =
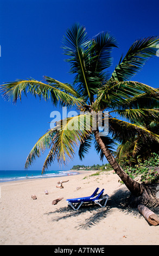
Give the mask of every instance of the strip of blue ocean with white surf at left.
POLYGON ((76 174, 78 174, 78 172, 70 172, 67 170, 47 170, 44 174, 41 174, 41 170, 0 170, 0 182, 51 178, 76 174))

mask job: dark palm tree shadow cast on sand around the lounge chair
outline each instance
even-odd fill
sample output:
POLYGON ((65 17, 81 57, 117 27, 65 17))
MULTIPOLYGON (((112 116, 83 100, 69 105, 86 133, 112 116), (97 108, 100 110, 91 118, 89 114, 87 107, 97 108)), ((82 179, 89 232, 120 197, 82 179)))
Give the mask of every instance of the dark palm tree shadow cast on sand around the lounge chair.
MULTIPOLYGON (((83 204, 79 210, 75 211, 71 208, 71 206, 68 205, 58 210, 48 212, 46 213, 46 215, 56 215, 56 217, 54 217, 52 221, 60 221, 70 217, 84 215, 86 212, 90 212, 91 216, 88 218, 84 218, 84 220, 77 227, 75 227, 77 229, 91 228, 93 225, 98 224, 108 215, 111 215, 113 209, 115 208, 124 212, 124 214, 127 213, 141 217, 137 208, 130 208, 128 206, 129 196, 130 192, 125 187, 123 187, 116 190, 112 194, 104 208, 101 208, 99 205, 96 204, 83 204), (59 214, 59 216, 57 216, 57 214, 59 214)), ((156 214, 159 213, 159 207, 151 210, 153 210, 156 214)))

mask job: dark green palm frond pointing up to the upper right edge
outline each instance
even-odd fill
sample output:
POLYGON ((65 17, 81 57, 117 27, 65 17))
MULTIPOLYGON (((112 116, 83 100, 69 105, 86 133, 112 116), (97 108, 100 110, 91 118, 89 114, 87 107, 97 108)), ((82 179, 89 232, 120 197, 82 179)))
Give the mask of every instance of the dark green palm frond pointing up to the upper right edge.
POLYGON ((156 45, 159 43, 158 36, 149 36, 148 38, 135 41, 129 48, 125 57, 120 59, 111 76, 111 81, 130 80, 147 60, 156 55, 156 45))

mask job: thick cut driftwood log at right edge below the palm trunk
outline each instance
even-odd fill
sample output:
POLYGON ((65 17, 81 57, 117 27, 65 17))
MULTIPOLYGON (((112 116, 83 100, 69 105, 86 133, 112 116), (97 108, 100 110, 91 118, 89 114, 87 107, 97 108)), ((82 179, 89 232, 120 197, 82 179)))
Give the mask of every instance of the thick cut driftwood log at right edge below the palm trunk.
POLYGON ((145 220, 147 220, 151 225, 156 226, 159 224, 158 216, 147 208, 147 206, 140 204, 138 205, 138 210, 144 216, 145 220))

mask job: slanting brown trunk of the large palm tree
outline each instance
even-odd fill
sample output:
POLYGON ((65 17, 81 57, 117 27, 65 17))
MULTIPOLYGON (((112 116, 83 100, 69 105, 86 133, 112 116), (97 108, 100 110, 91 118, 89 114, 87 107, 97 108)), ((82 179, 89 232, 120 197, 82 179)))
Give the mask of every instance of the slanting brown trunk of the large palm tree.
POLYGON ((118 162, 115 160, 113 155, 110 153, 110 150, 105 146, 102 141, 102 137, 99 136, 99 131, 94 131, 94 136, 96 138, 97 143, 99 144, 101 150, 103 151, 107 161, 110 163, 112 168, 118 174, 120 179, 124 182, 125 186, 128 190, 134 195, 139 196, 143 193, 143 186, 136 182, 135 180, 131 179, 128 174, 124 172, 122 167, 119 166, 118 162))

